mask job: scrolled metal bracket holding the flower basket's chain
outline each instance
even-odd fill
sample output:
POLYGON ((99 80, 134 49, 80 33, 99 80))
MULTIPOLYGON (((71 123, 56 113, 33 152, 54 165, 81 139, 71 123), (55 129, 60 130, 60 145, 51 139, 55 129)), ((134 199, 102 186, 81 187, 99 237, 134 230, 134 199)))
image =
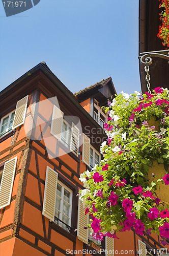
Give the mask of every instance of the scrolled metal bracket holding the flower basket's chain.
POLYGON ((140 62, 146 66, 150 66, 152 63, 152 57, 159 57, 168 60, 169 64, 169 50, 155 51, 155 52, 142 52, 141 56, 138 56, 140 62))

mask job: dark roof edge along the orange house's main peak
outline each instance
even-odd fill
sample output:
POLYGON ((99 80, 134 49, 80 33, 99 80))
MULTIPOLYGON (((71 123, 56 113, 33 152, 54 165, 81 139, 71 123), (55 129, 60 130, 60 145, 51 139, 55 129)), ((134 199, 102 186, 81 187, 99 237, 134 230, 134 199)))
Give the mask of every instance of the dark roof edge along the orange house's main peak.
POLYGON ((65 96, 76 106, 76 108, 99 130, 102 131, 103 136, 106 137, 106 134, 104 130, 101 128, 101 126, 93 119, 93 117, 82 108, 82 106, 79 104, 79 102, 76 100, 74 95, 64 86, 64 84, 46 67, 46 65, 43 65, 43 63, 39 63, 37 66, 32 68, 30 71, 26 72, 24 75, 19 77, 17 80, 15 80, 13 83, 11 83, 7 88, 5 88, 3 91, 0 92, 0 100, 1 97, 3 97, 6 93, 14 89, 18 83, 24 81, 27 77, 29 77, 29 73, 33 75, 37 71, 42 71, 52 82, 53 84, 62 92, 65 94, 65 96))

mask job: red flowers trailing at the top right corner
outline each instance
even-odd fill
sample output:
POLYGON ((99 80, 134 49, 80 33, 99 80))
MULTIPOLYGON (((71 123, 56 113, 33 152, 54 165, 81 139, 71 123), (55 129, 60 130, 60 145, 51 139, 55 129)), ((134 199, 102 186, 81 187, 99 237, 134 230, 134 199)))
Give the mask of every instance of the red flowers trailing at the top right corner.
POLYGON ((159 8, 164 8, 160 15, 160 20, 162 20, 162 25, 159 26, 159 33, 157 36, 163 40, 163 46, 169 46, 169 0, 159 0, 159 8))

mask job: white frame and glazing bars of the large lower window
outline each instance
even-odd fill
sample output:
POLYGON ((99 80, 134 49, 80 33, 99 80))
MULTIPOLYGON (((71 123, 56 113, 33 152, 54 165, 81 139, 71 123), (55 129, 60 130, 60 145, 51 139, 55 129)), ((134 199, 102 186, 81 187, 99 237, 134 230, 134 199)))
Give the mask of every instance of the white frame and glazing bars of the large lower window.
MULTIPOLYGON (((68 226, 71 226, 73 191, 72 191, 69 187, 67 187, 65 184, 63 184, 61 181, 59 181, 59 180, 58 180, 57 185, 58 185, 58 184, 62 186, 62 195, 61 195, 61 197, 59 197, 58 195, 56 195, 55 203, 57 202, 57 197, 59 197, 59 198, 61 198, 61 206, 60 206, 60 210, 58 210, 56 207, 55 207, 55 209, 57 209, 57 211, 60 212, 60 217, 59 217, 59 218, 58 218, 57 216, 54 216, 54 217, 57 217, 57 218, 60 219, 61 221, 62 221, 62 219, 63 219, 62 216, 64 215, 64 214, 63 214, 64 190, 66 189, 66 190, 70 193, 70 203, 69 203, 69 205, 70 205, 70 211, 69 211, 69 217, 66 216, 66 215, 65 215, 65 216, 69 218, 69 223, 68 223, 67 225, 68 225, 68 226)), ((66 201, 65 201, 65 202, 66 202, 66 201)), ((68 202, 66 202, 66 203, 68 203, 68 202)), ((62 222, 59 222, 58 220, 55 220, 54 222, 57 223, 58 225, 62 226, 62 222)))

